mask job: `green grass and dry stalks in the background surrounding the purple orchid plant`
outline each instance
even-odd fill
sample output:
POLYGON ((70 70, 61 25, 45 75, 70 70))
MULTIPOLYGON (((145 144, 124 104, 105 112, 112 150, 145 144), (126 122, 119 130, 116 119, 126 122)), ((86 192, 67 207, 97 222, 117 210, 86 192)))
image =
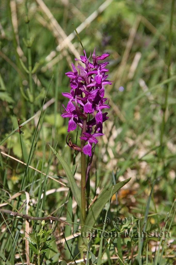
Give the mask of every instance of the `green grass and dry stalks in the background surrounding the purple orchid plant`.
MULTIPOLYGON (((118 191, 118 205, 113 195, 94 227, 106 231, 117 228, 122 233, 124 229, 129 232, 139 228, 147 233, 155 230, 171 233, 166 240, 147 237, 143 242, 123 235, 113 241, 104 238, 100 242, 100 238, 95 238, 89 241, 84 253, 89 253, 90 264, 97 262, 95 257, 99 257, 98 262, 101 257, 101 263, 106 264, 174 264, 174 2, 1 1, 0 264, 25 264, 29 260, 37 264, 31 246, 30 259, 27 258, 25 231, 41 229, 39 221, 28 222, 4 210, 33 217, 52 215, 74 223, 68 226, 55 221, 47 236, 52 233, 56 241, 51 241, 50 249, 45 256, 41 255, 41 262, 49 265, 66 260, 69 263, 73 258, 76 263, 80 262, 78 238, 72 237, 79 223, 77 204, 63 167, 49 148, 50 144, 67 161, 72 172, 76 172, 79 186, 80 153, 74 153, 66 145, 67 119, 60 117, 62 104, 66 104, 62 92, 70 90, 64 73, 70 71, 74 58, 82 54, 72 23, 87 55, 94 47, 96 54, 110 54, 109 79, 113 80, 113 85, 106 87, 111 108, 103 129, 105 135, 95 149, 90 187, 87 186, 88 203, 92 203, 103 187, 108 189, 115 182, 131 177, 118 191), (123 91, 119 89, 121 86, 123 91), (22 119, 20 124, 24 123, 25 127, 21 128, 24 134, 14 131, 17 118, 22 119), (18 193, 22 190, 26 193, 18 193), (103 228, 106 213, 110 223, 103 228), (114 227, 117 216, 133 217, 134 223, 114 227), (141 218, 139 224, 136 218, 141 218)), ((71 133, 71 138, 76 142, 76 133, 71 133)), ((46 229, 51 227, 50 222, 45 225, 46 229)))

